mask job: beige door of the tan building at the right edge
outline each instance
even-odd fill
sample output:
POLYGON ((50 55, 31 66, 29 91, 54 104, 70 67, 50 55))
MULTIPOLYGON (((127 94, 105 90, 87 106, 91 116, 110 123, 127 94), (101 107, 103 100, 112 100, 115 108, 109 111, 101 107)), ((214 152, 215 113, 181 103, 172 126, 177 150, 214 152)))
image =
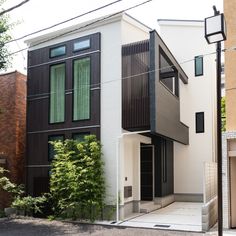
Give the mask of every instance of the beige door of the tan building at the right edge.
POLYGON ((236 228, 236 157, 229 158, 231 228, 236 228))

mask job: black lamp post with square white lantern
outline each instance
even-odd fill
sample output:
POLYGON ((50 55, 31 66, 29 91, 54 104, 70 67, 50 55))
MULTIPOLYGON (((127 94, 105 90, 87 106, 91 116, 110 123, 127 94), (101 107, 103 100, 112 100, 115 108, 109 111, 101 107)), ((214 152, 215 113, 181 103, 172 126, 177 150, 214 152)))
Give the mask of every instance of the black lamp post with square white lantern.
POLYGON ((222 207, 222 140, 221 140, 221 41, 226 40, 224 14, 213 6, 214 16, 205 18, 205 38, 209 44, 216 43, 217 76, 217 195, 218 195, 218 235, 223 235, 222 207))

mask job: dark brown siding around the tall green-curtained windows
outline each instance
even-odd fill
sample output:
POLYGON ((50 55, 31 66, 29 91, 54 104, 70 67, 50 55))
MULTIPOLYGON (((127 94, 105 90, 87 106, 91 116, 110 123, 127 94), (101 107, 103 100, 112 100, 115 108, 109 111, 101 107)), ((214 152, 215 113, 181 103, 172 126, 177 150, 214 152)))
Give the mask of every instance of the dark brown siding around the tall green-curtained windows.
POLYGON ((48 137, 63 135, 72 138, 73 134, 90 133, 100 139, 100 33, 88 35, 60 44, 29 51, 28 91, 27 91, 27 188, 30 194, 38 195, 47 189, 48 178, 48 137), (90 48, 73 51, 77 40, 90 39, 90 48), (50 58, 50 49, 66 46, 66 54, 50 58), (91 60, 90 119, 73 121, 73 61, 83 57, 91 60), (50 66, 65 63, 65 121, 49 123, 50 66), (34 183, 34 179, 36 181, 34 183), (38 187, 38 182, 45 187, 38 187), (41 188, 41 190, 40 190, 41 188))

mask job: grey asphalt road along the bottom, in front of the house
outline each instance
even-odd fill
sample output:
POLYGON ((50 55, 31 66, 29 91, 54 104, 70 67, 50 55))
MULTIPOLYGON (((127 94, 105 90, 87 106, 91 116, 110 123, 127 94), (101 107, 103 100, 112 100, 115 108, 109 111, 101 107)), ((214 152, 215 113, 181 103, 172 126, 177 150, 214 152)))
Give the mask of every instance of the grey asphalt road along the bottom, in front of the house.
MULTIPOLYGON (((0 236, 202 236, 204 233, 65 223, 35 218, 0 219, 0 236)), ((207 235, 216 235, 215 232, 207 235)))

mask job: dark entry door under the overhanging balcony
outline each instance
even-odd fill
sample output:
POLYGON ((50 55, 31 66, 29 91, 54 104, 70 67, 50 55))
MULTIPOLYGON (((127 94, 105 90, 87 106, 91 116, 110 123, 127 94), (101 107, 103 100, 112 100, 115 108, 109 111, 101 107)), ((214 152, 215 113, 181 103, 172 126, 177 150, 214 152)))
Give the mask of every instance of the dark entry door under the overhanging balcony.
POLYGON ((141 200, 153 200, 153 147, 141 146, 141 200))

